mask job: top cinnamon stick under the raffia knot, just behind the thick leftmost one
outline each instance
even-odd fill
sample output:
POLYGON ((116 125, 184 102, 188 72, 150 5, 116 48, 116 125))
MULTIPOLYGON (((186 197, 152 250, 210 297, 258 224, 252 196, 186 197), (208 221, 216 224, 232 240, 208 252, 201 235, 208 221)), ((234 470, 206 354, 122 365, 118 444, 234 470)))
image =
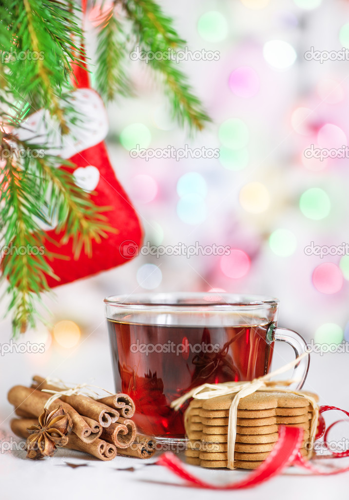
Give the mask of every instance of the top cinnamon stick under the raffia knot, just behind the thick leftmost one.
MULTIPOLYGON (((48 384, 43 377, 38 375, 35 375, 33 380, 36 382, 36 389, 62 390, 55 385, 48 384)), ((83 396, 81 394, 73 394, 71 396, 61 395, 59 398, 70 404, 80 415, 87 416, 99 422, 102 427, 109 427, 111 423, 116 422, 119 418, 118 411, 114 408, 110 408, 106 404, 92 399, 91 397, 83 396)))

